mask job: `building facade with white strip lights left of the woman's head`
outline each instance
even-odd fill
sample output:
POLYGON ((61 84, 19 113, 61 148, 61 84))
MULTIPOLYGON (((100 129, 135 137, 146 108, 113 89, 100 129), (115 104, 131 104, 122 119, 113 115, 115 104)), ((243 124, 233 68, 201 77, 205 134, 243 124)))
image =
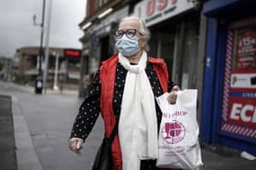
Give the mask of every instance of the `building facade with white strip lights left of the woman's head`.
POLYGON ((114 53, 115 40, 113 37, 119 21, 131 13, 135 0, 88 0, 87 14, 80 23, 84 35, 80 38, 82 43, 81 56, 81 82, 80 96, 87 89, 86 77, 95 74, 101 62, 114 53))

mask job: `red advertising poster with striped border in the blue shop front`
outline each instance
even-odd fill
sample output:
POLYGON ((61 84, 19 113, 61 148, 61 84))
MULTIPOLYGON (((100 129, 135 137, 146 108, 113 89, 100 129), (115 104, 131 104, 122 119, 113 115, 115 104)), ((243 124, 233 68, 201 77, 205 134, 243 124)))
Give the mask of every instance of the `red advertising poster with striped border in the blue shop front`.
POLYGON ((220 131, 256 144, 256 17, 229 25, 220 131))

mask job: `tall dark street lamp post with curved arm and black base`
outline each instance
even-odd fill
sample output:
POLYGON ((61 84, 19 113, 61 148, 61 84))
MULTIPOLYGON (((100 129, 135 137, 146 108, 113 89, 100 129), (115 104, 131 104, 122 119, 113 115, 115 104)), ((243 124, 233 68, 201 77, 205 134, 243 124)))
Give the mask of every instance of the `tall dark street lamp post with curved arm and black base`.
POLYGON ((38 75, 37 75, 36 86, 35 86, 35 88, 36 88, 35 91, 37 94, 42 94, 42 85, 41 84, 42 84, 42 58, 44 56, 43 40, 44 40, 45 6, 46 6, 46 0, 43 0, 42 20, 41 20, 40 24, 37 23, 37 15, 33 15, 34 25, 41 27, 40 47, 39 47, 39 66, 38 66, 38 75), (38 83, 38 81, 40 83, 38 83))

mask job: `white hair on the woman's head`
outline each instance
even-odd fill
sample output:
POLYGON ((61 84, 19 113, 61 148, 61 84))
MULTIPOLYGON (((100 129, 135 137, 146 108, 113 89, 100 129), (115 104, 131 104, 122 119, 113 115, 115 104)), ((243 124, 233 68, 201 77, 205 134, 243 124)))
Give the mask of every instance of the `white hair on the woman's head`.
POLYGON ((145 26, 144 21, 134 15, 130 15, 130 16, 125 16, 119 23, 119 25, 124 22, 124 21, 128 21, 128 20, 133 20, 133 21, 137 21, 140 23, 140 32, 143 34, 144 38, 149 41, 150 39, 150 31, 148 30, 148 28, 145 26))

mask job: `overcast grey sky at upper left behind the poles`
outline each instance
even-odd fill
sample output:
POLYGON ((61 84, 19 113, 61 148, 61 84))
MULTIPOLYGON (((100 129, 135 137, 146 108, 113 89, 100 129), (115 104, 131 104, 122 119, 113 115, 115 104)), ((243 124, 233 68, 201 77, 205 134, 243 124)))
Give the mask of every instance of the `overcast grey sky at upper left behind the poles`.
MULTIPOLYGON (((0 0, 0 55, 13 55, 22 46, 39 45, 40 27, 33 25, 33 15, 40 23, 42 4, 43 0, 0 0)), ((85 16, 85 5, 86 0, 52 0, 50 46, 81 47, 79 38, 83 33, 79 24, 85 16)))

